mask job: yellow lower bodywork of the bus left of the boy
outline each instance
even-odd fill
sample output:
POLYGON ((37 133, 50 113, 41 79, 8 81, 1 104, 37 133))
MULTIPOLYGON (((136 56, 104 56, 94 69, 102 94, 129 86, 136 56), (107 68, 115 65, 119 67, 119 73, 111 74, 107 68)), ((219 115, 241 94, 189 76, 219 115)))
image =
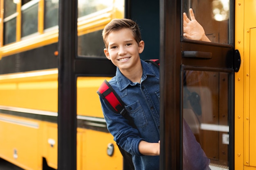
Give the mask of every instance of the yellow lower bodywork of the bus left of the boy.
MULTIPOLYGON (((96 93, 109 77, 77 78, 77 115, 103 118, 96 93)), ((0 107, 13 111, 44 111, 57 116, 56 69, 0 76, 0 107)), ((26 170, 41 170, 42 158, 57 169, 57 123, 0 113, 0 157, 26 170), (29 156, 28 156, 29 155, 29 156)), ((121 170, 122 157, 110 133, 77 129, 77 170, 121 170), (107 155, 108 144, 114 154, 107 155)))

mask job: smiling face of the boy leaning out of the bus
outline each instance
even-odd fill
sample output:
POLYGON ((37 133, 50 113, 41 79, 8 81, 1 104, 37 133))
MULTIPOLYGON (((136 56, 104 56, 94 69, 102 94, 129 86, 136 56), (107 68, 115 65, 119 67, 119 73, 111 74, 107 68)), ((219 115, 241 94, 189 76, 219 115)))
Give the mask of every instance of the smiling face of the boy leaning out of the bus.
POLYGON ((121 72, 131 71, 141 65, 139 54, 144 50, 144 41, 141 40, 138 45, 130 29, 123 28, 111 32, 107 41, 108 48, 104 49, 105 55, 121 72))

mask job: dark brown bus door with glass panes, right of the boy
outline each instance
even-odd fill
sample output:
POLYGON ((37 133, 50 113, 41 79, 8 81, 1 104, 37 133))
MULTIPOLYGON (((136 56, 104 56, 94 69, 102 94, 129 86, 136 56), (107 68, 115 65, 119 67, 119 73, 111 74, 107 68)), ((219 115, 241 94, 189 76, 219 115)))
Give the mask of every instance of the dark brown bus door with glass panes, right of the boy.
POLYGON ((239 51, 234 50, 234 2, 162 0, 160 11, 160 169, 194 169, 198 152, 193 139, 186 141, 183 134, 186 123, 211 169, 234 169, 234 72, 240 67, 239 51), (190 8, 211 42, 183 37, 182 13, 190 18, 190 8))

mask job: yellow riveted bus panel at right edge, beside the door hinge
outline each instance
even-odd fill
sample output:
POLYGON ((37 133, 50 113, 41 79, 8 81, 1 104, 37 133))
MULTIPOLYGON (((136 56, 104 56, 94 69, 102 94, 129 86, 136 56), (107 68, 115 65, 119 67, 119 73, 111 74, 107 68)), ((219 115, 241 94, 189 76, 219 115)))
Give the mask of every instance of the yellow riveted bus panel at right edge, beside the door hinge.
POLYGON ((235 49, 241 67, 235 74, 235 169, 256 170, 256 1, 235 3, 235 49))

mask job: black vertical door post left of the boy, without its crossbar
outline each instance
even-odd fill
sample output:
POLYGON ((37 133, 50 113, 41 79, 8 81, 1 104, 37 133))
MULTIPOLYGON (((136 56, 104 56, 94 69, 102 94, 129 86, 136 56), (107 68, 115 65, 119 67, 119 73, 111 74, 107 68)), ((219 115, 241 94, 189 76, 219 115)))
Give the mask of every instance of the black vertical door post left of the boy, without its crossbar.
POLYGON ((59 1, 58 26, 58 169, 76 170, 77 0, 59 1))

